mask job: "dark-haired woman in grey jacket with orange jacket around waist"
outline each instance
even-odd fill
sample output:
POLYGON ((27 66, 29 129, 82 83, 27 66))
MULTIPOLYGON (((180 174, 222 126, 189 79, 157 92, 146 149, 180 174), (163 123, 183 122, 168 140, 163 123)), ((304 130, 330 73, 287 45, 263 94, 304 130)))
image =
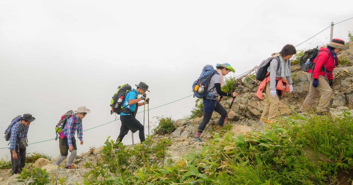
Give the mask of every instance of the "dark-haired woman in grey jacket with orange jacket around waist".
POLYGON ((271 55, 274 58, 267 68, 267 72, 270 73, 270 79, 266 84, 265 94, 267 100, 260 121, 271 122, 271 119, 277 116, 285 85, 288 85, 287 88, 289 88, 290 92, 293 91, 291 62, 289 58, 296 53, 295 47, 291 44, 287 44, 282 48, 280 53, 273 53, 271 55), (278 85, 278 82, 283 83, 283 86, 278 85))

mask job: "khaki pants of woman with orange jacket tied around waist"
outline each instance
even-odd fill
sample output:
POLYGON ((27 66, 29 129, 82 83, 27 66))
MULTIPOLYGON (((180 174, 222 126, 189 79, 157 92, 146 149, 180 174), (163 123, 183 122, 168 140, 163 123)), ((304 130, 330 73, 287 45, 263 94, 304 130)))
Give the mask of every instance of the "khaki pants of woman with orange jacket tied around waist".
POLYGON ((266 85, 266 104, 264 107, 264 111, 262 112, 262 119, 270 121, 271 118, 275 118, 277 116, 278 108, 280 106, 280 99, 278 98, 278 95, 275 97, 270 95, 270 82, 267 83, 266 85))

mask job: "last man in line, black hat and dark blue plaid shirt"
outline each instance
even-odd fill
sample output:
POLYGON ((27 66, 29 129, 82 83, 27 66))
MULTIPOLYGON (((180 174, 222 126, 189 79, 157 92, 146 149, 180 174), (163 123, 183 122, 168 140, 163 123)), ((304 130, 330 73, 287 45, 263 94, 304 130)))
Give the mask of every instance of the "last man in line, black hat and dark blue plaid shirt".
POLYGON ((13 124, 10 136, 10 153, 12 162, 12 172, 20 173, 26 162, 27 133, 29 125, 36 118, 31 114, 24 114, 21 120, 13 124))

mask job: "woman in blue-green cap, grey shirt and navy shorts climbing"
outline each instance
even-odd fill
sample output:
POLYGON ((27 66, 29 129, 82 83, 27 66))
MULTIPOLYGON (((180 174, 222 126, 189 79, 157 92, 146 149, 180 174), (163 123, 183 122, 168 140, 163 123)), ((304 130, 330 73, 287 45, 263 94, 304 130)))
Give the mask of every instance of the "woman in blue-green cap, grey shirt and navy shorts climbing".
POLYGON ((221 87, 224 86, 224 78, 223 76, 227 75, 229 72, 235 72, 233 67, 229 63, 217 63, 217 72, 214 74, 208 84, 208 95, 203 98, 203 120, 200 123, 195 137, 192 139, 192 142, 201 142, 200 135, 202 131, 205 129, 206 125, 211 119, 213 111, 218 112, 221 117, 219 119, 218 125, 222 126, 224 120, 227 117, 226 109, 219 103, 217 97, 220 95, 222 96, 229 96, 229 97, 237 97, 238 93, 225 93, 221 90, 221 87))

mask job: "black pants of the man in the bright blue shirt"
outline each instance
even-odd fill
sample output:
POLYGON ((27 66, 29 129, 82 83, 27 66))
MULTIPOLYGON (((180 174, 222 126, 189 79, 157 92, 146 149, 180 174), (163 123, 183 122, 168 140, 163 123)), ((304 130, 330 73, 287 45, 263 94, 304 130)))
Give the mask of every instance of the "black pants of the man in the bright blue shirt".
POLYGON ((135 133, 138 130, 138 136, 140 138, 141 143, 145 141, 145 130, 143 125, 133 116, 131 115, 124 115, 120 116, 121 120, 121 127, 120 127, 120 134, 116 141, 122 141, 125 135, 131 130, 132 133, 135 133))

